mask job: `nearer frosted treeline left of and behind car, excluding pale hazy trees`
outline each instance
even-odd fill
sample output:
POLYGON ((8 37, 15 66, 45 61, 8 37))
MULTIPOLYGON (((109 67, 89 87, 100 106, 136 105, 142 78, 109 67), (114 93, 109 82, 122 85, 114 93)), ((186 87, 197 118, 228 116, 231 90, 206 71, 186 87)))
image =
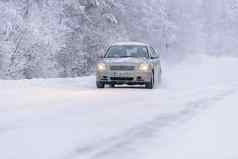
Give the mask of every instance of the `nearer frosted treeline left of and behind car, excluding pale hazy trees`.
POLYGON ((165 2, 153 0, 1 0, 0 78, 90 74, 117 41, 150 41, 169 27, 165 2))

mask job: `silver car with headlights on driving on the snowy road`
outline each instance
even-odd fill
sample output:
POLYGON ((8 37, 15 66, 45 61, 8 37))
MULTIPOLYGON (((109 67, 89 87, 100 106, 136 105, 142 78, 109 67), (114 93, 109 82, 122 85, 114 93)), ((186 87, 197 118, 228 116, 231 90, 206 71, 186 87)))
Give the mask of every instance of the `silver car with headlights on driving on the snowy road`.
POLYGON ((97 88, 127 84, 153 89, 161 79, 160 57, 148 44, 117 43, 109 47, 96 72, 97 88))

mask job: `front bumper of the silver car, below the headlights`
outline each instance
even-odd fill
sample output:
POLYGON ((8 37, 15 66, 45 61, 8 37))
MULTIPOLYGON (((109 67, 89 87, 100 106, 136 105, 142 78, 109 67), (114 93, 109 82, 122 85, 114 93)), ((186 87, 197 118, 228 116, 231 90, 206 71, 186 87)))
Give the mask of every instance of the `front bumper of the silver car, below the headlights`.
POLYGON ((151 72, 105 71, 97 72, 97 82, 104 84, 145 84, 151 81, 151 72))

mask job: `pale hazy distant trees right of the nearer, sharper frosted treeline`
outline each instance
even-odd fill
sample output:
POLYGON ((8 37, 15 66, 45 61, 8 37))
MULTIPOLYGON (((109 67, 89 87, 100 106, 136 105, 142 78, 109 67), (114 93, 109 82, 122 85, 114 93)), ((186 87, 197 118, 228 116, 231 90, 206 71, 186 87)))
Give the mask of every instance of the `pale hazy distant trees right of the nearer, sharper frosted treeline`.
POLYGON ((237 55, 237 0, 168 0, 176 30, 173 51, 185 54, 237 55))

